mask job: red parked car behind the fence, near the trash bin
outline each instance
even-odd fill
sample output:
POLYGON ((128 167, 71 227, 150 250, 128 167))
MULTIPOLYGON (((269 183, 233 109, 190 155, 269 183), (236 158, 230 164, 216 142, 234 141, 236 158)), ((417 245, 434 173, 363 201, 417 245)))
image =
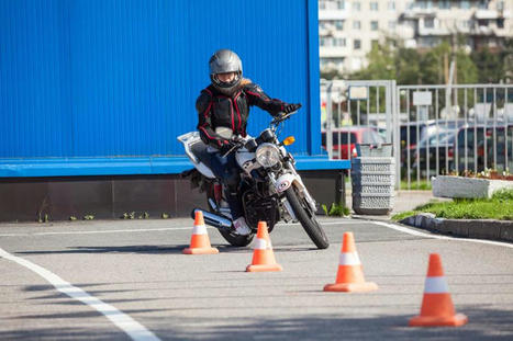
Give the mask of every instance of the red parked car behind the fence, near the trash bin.
MULTIPOLYGON (((356 158, 356 144, 382 144, 384 139, 373 127, 343 127, 332 132, 333 158, 356 158)), ((326 132, 322 132, 322 147, 326 149, 326 132)))

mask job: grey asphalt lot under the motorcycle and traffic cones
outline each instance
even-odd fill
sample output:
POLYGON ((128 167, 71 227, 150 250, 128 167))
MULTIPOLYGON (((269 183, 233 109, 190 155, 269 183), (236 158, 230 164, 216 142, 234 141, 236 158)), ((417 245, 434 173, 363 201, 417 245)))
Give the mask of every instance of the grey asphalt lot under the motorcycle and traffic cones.
POLYGON ((246 273, 252 248, 228 247, 212 228, 220 254, 182 254, 191 219, 0 225, 0 340, 513 339, 513 245, 361 219, 322 225, 327 250, 298 224, 276 227, 276 273, 246 273), (345 231, 378 291, 322 291, 345 231), (408 327, 432 252, 464 327, 408 327))

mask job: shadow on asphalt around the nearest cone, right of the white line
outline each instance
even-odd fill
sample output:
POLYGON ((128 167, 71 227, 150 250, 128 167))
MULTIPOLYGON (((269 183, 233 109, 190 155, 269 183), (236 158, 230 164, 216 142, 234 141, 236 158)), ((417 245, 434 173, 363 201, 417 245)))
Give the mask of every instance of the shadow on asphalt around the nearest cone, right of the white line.
POLYGON ((512 340, 511 311, 459 308, 469 318, 469 323, 459 328, 411 328, 408 321, 413 316, 353 318, 341 312, 339 316, 290 319, 222 320, 220 322, 227 326, 213 326, 208 331, 194 328, 187 333, 166 329, 153 331, 163 340, 512 340), (492 333, 483 332, 484 328, 492 333))

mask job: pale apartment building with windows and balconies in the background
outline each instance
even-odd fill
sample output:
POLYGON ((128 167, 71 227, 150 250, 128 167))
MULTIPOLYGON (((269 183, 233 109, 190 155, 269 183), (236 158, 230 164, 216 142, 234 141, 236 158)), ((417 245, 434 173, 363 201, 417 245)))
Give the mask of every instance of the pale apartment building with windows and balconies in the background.
POLYGON ((513 37, 513 0, 319 0, 321 70, 352 73, 386 36, 430 48, 464 36, 468 49, 513 37))

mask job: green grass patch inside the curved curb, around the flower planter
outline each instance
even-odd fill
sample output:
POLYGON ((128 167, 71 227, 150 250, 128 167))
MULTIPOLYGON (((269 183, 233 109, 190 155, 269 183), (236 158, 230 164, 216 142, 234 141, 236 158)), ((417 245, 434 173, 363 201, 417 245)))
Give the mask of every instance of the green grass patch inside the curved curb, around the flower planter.
POLYGON ((498 219, 513 220, 513 190, 495 192, 491 198, 455 198, 451 202, 428 203, 414 211, 392 216, 401 220, 417 213, 433 213, 447 219, 498 219))

